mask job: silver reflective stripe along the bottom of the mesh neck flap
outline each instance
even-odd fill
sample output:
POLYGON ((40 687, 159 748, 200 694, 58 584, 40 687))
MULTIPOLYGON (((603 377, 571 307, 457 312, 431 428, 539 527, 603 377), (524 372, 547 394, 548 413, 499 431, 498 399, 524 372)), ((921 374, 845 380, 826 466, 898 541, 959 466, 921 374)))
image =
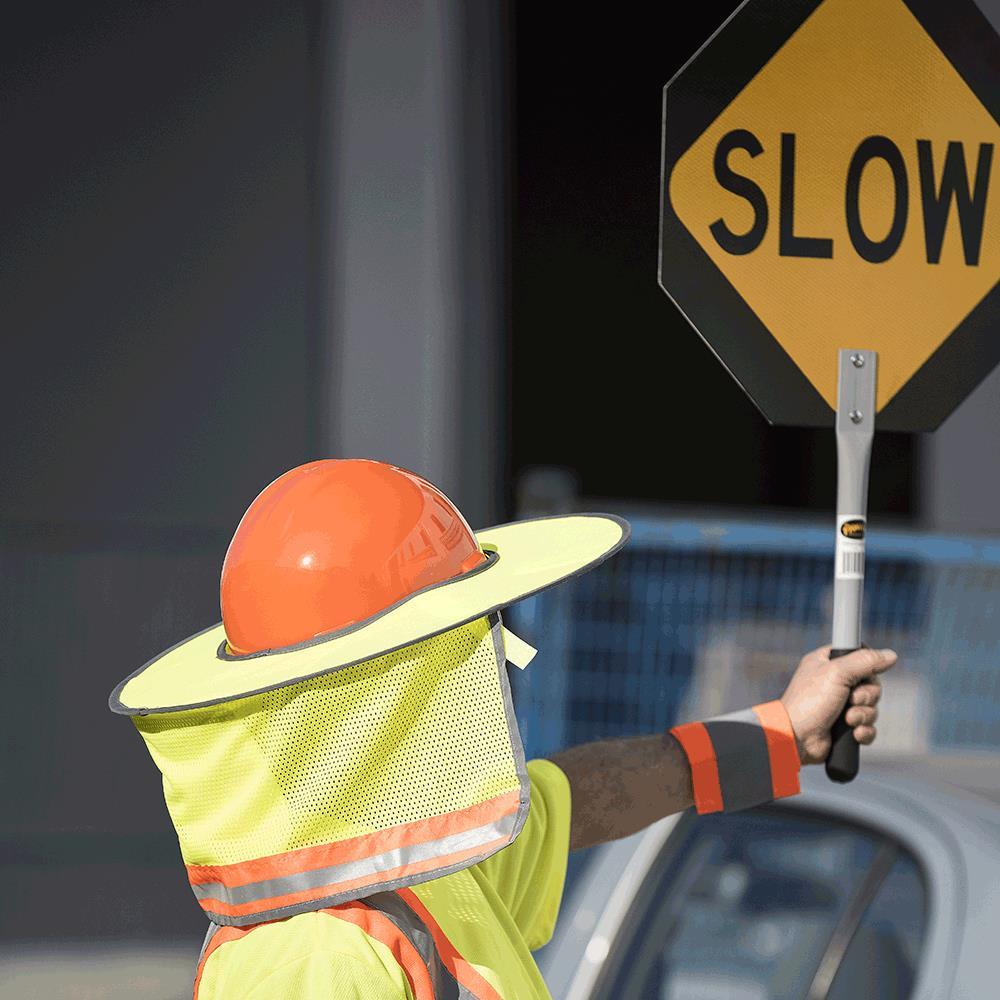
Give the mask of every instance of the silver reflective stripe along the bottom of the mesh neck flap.
MULTIPOLYGON (((329 868, 316 868, 312 871, 296 872, 281 878, 265 879, 261 882, 249 882, 246 885, 226 886, 221 882, 192 883, 191 889, 198 899, 217 899, 230 906, 242 903, 252 903, 257 900, 274 899, 293 892, 306 889, 319 889, 330 886, 335 891, 338 883, 364 878, 366 875, 378 875, 380 872, 392 871, 403 865, 417 861, 428 861, 432 858, 455 854, 489 844, 501 837, 509 837, 514 831, 517 813, 503 816, 493 823, 453 833, 438 840, 428 840, 410 847, 397 847, 369 858, 358 861, 348 861, 329 868)), ((259 918, 257 918, 259 920, 259 918)))

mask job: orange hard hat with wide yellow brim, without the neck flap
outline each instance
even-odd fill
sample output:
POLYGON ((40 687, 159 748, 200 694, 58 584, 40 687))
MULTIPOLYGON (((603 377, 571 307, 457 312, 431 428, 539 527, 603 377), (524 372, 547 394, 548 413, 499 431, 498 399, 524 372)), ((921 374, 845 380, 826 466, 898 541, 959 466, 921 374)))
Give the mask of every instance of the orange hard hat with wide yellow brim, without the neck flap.
POLYGON ((140 667, 114 689, 110 707, 133 716, 179 712, 373 660, 583 573, 618 551, 628 535, 628 523, 613 514, 543 517, 473 533, 440 491, 404 469, 360 459, 300 466, 271 483, 237 529, 227 554, 228 607, 223 571, 223 623, 140 667), (298 548, 289 544, 296 533, 304 539, 298 548), (256 543, 238 544, 248 538, 264 539, 263 551, 256 543), (385 547, 381 564, 372 550, 379 544, 385 547), (433 580, 442 563, 459 571, 409 589, 414 581, 433 580), (303 578, 306 589, 297 590, 303 578), (324 603, 329 593, 350 605, 346 612, 324 603), (379 604, 386 594, 398 597, 379 604), (358 608, 371 609, 372 601, 374 613, 359 617, 358 608), (312 632, 268 644, 268 635, 287 634, 284 621, 272 620, 278 604, 304 611, 303 627, 312 632), (327 627, 310 626, 310 613, 327 627), (348 624, 330 624, 344 614, 348 624), (246 637, 237 637, 244 625, 246 637), (263 632, 254 636, 258 626, 263 632))

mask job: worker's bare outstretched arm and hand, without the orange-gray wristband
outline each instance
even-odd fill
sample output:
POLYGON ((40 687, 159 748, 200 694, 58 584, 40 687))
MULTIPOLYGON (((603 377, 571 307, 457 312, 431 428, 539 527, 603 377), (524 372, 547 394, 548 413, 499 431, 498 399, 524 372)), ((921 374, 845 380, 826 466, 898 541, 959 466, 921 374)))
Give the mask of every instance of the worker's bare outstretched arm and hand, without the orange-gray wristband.
MULTIPOLYGON (((798 763, 826 760, 830 728, 848 700, 852 707, 847 712, 847 724, 854 728, 854 738, 863 744, 875 739, 877 704, 882 694, 878 675, 896 662, 896 654, 889 649, 862 649, 834 660, 829 654, 830 647, 824 646, 803 657, 780 702, 762 706, 770 708, 775 717, 775 731, 766 737, 769 748, 780 744, 781 735, 776 730, 781 725, 789 727, 789 738, 794 736, 796 770, 798 763)), ((767 716, 766 712, 758 714, 767 716)), ((732 750, 738 754, 739 740, 743 738, 738 722, 721 721, 728 726, 724 738, 730 740, 732 750)), ((709 728, 719 732, 718 724, 709 728)), ((689 756, 692 747, 684 730, 675 730, 681 739, 663 733, 600 740, 552 755, 552 762, 569 779, 573 803, 571 851, 626 837, 694 804, 689 756)), ((754 745, 748 744, 745 761, 754 761, 754 750, 754 745)), ((697 780, 701 780, 700 776, 696 776, 697 780)))

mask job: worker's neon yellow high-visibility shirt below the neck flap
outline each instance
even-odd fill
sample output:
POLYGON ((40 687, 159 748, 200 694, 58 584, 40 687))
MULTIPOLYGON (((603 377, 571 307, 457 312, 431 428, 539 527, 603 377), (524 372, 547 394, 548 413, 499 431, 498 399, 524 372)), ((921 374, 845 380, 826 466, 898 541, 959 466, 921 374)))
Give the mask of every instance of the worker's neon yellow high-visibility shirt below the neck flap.
MULTIPOLYGON (((438 952, 467 970, 477 997, 551 1000, 531 952, 551 938, 559 912, 570 788, 549 760, 527 767, 531 804, 513 844, 477 865, 399 891, 412 894, 411 901, 415 896, 414 906, 436 922, 438 952)), ((200 965, 196 1000, 421 1000, 429 991, 417 972, 426 976, 426 970, 394 930, 382 914, 352 904, 223 928, 200 965)))

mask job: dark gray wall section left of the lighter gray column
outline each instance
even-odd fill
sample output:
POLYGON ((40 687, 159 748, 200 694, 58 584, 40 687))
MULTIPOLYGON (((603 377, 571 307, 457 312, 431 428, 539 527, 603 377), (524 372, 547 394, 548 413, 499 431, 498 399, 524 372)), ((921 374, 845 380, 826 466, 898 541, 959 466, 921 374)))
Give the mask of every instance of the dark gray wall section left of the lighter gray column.
POLYGON ((6 14, 0 937, 197 935, 107 696, 217 620, 232 527, 313 454, 305 12, 6 14))

